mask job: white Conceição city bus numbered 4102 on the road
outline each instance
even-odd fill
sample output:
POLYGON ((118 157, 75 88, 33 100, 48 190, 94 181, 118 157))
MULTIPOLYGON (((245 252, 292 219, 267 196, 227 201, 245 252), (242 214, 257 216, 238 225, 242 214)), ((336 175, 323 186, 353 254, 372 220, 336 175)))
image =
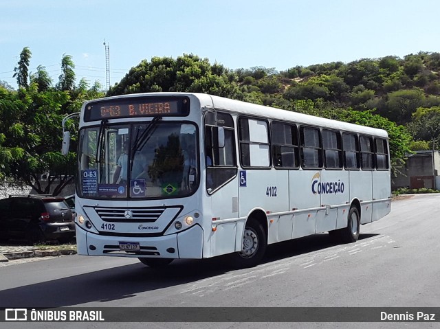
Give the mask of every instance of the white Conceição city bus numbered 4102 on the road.
MULTIPOLYGON (((65 141, 65 144, 67 141, 65 141)), ((142 93, 80 112, 78 254, 148 266, 329 231, 358 240, 391 209, 386 131, 201 93, 142 93)))

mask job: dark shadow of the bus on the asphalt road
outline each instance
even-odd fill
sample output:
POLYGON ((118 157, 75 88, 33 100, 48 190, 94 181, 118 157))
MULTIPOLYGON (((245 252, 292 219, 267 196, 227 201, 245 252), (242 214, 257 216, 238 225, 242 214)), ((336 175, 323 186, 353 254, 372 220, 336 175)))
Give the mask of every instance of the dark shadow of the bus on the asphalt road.
MULTIPOLYGON (((361 234, 360 240, 377 234, 361 234)), ((316 234, 267 247, 263 263, 300 256, 338 245, 328 234, 316 234)), ((78 257, 78 256, 69 256, 78 257)), ((228 256, 207 260, 175 260, 162 269, 142 263, 113 267, 57 280, 0 291, 0 308, 52 308, 102 303, 135 297, 139 293, 190 284, 233 271, 228 256)), ((21 264, 24 266, 30 264, 21 264)), ((30 265, 32 266, 32 265, 30 265)), ((246 270, 243 270, 246 271, 246 270)), ((124 304, 124 302, 122 302, 124 304)))

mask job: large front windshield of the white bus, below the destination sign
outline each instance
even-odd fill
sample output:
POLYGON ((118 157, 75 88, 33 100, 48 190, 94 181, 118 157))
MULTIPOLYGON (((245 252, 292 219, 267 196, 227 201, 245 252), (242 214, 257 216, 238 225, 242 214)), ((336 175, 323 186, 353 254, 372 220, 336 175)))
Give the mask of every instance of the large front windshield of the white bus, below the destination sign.
POLYGON ((142 122, 80 131, 78 190, 89 198, 173 198, 199 185, 195 124, 142 122))

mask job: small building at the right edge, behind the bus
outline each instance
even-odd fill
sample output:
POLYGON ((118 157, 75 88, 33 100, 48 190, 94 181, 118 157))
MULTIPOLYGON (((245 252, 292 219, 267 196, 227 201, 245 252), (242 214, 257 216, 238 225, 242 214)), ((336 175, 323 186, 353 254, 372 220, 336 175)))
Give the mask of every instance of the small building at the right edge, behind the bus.
POLYGON ((432 188, 440 190, 440 150, 415 151, 406 155, 401 173, 393 177, 392 188, 432 188))

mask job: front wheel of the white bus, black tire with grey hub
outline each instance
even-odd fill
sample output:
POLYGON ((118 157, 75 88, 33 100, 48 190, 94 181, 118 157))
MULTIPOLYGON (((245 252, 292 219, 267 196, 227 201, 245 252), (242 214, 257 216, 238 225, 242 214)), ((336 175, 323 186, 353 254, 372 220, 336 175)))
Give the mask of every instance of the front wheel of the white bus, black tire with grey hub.
POLYGON ((234 253, 234 265, 239 268, 258 265, 267 248, 267 236, 263 226, 256 220, 248 220, 243 233, 243 250, 234 253))

